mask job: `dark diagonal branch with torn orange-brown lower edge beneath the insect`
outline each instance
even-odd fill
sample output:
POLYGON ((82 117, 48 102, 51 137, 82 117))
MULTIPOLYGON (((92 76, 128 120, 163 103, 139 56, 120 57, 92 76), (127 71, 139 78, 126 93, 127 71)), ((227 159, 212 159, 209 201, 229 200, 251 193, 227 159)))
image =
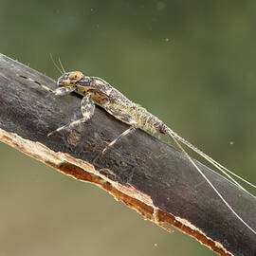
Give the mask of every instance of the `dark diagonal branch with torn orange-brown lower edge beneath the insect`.
MULTIPOLYGON (((164 229, 171 224, 220 255, 256 255, 256 236, 210 189, 183 154, 137 130, 105 155, 106 141, 127 125, 97 107, 86 123, 46 135, 82 117, 81 97, 56 97, 25 75, 55 88, 53 80, 0 55, 0 139, 56 170, 97 184, 164 229)), ((256 229, 256 200, 197 162, 229 204, 256 229)), ((171 238, 170 238, 171 239, 171 238)))

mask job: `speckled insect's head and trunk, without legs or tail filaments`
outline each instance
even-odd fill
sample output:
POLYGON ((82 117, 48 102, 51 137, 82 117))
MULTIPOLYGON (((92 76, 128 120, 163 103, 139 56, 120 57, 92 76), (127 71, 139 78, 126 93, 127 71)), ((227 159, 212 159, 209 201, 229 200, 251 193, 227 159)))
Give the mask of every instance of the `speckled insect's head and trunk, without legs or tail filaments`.
MULTIPOLYGON (((75 91, 82 95, 90 95, 90 100, 100 104, 115 118, 151 133, 163 132, 164 123, 150 114, 136 103, 129 101, 108 82, 96 77, 84 77, 81 72, 75 71, 64 74, 59 85, 75 87, 75 91)), ((82 108, 84 105, 82 104, 82 108)))

